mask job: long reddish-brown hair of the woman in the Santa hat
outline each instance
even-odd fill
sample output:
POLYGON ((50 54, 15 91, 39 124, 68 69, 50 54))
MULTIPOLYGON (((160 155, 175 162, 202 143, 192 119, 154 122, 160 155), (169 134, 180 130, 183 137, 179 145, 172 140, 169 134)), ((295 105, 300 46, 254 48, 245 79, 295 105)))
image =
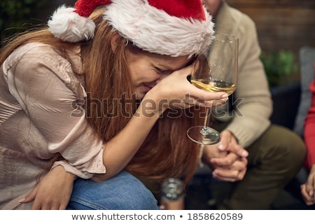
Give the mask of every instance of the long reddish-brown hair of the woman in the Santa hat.
MULTIPOLYGON (((90 17, 97 25, 94 38, 90 41, 66 43, 54 38, 47 28, 32 31, 15 38, 1 50, 0 64, 18 46, 29 42, 52 45, 69 60, 73 47, 80 45, 88 95, 87 120, 99 137, 109 141, 132 118, 137 101, 127 66, 126 52, 130 45, 120 37, 117 40, 118 48, 113 52, 111 38, 116 31, 103 19, 102 12, 96 10, 90 17)), ((199 116, 189 109, 179 109, 175 114, 174 111, 169 112, 165 111, 155 124, 127 165, 127 170, 149 179, 185 178, 187 183, 195 172, 200 146, 186 137, 186 130, 199 120, 199 116)))

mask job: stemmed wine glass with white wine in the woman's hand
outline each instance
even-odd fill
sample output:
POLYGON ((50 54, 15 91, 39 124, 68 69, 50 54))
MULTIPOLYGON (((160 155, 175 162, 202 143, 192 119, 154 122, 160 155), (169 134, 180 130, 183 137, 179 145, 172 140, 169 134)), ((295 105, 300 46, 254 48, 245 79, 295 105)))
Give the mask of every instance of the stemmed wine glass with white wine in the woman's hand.
MULTIPOLYGON (((206 53, 198 58, 199 66, 193 71, 190 82, 209 92, 232 94, 237 86, 238 38, 228 34, 214 34, 214 40, 206 53)), ((207 127, 211 109, 207 107, 207 117, 203 126, 190 127, 188 137, 197 144, 212 145, 221 141, 221 135, 207 127)))

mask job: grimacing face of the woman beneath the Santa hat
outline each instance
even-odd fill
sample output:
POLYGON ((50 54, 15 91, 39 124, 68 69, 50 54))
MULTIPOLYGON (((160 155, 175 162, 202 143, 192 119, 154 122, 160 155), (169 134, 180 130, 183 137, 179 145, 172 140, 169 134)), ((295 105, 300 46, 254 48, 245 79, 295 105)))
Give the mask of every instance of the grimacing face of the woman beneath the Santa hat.
POLYGON ((127 51, 128 66, 137 99, 142 99, 163 78, 182 69, 192 59, 188 56, 171 57, 144 52, 132 47, 127 51))

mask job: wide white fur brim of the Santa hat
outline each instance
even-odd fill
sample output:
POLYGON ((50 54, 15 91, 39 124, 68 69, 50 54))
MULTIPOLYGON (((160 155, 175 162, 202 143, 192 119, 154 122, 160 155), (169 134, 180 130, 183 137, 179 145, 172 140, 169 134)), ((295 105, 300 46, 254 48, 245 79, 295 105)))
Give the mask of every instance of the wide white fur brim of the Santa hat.
POLYGON ((112 0, 104 19, 137 47, 177 57, 199 55, 211 44, 214 23, 205 8, 204 13, 206 20, 189 20, 169 15, 148 1, 112 0))

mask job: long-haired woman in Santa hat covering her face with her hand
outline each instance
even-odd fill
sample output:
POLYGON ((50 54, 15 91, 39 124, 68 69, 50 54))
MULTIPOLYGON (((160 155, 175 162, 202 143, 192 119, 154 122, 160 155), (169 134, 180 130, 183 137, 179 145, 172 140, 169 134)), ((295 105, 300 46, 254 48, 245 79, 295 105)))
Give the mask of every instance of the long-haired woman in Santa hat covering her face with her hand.
POLYGON ((132 174, 187 182, 183 109, 227 99, 187 80, 211 17, 200 0, 79 0, 48 26, 0 55, 0 208, 158 209, 132 174))

